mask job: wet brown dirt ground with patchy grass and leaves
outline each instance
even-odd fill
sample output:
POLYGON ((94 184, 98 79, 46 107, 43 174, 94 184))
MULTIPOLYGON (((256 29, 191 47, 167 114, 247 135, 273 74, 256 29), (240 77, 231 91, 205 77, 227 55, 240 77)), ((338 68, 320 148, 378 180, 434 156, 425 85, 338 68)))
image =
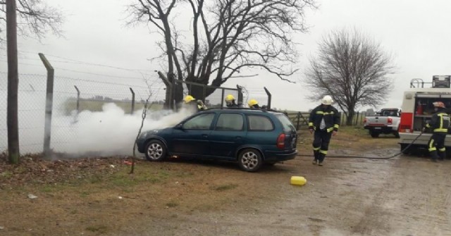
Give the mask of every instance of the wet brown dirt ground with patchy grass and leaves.
MULTIPOLYGON (((233 163, 125 157, 0 161, 0 235, 451 235, 451 161, 299 156, 246 173, 233 163), (307 179, 290 185, 291 176, 307 179), (34 195, 31 199, 29 194, 34 195)), ((348 128, 329 156, 393 156, 391 136, 348 128)))

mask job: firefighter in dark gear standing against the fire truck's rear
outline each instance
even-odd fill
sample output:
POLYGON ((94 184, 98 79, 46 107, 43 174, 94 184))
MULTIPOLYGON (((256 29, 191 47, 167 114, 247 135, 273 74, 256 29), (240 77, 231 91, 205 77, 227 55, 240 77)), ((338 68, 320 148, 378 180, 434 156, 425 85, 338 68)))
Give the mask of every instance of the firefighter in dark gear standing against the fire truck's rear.
POLYGON ((450 116, 446 113, 445 104, 442 101, 433 103, 435 113, 431 120, 426 123, 426 128, 432 130, 431 138, 428 142, 428 150, 431 160, 437 162, 438 159, 445 159, 445 137, 450 126, 450 116), (438 149, 438 151, 437 151, 438 149))

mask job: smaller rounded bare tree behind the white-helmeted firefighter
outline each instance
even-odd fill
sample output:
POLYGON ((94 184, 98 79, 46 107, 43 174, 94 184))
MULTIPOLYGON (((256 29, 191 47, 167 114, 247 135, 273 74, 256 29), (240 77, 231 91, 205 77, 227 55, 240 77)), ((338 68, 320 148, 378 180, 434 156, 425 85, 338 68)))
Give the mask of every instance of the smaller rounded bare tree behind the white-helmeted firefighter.
POLYGON ((340 106, 352 125, 356 108, 383 104, 393 89, 392 57, 380 44, 357 30, 336 30, 319 42, 319 53, 310 59, 302 80, 310 88, 309 99, 326 94, 340 106))

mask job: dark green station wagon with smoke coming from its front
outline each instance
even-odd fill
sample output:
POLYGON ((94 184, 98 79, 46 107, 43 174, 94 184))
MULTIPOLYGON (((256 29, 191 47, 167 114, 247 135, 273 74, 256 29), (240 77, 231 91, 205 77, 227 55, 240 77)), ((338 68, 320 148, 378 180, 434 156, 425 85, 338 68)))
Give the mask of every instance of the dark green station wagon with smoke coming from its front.
POLYGON ((167 156, 235 161, 249 172, 294 159, 296 144, 296 129, 284 113, 249 108, 209 109, 137 139, 149 161, 167 156))

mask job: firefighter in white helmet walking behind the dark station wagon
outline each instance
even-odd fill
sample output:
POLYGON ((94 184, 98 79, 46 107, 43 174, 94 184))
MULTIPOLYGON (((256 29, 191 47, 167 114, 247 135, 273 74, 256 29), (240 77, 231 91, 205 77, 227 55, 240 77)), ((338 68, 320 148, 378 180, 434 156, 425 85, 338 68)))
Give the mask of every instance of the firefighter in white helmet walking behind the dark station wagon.
POLYGON ((326 95, 321 105, 316 106, 309 116, 309 131, 314 133, 313 153, 314 165, 323 166, 329 147, 330 137, 335 136, 340 126, 340 114, 332 106, 332 97, 326 95))

